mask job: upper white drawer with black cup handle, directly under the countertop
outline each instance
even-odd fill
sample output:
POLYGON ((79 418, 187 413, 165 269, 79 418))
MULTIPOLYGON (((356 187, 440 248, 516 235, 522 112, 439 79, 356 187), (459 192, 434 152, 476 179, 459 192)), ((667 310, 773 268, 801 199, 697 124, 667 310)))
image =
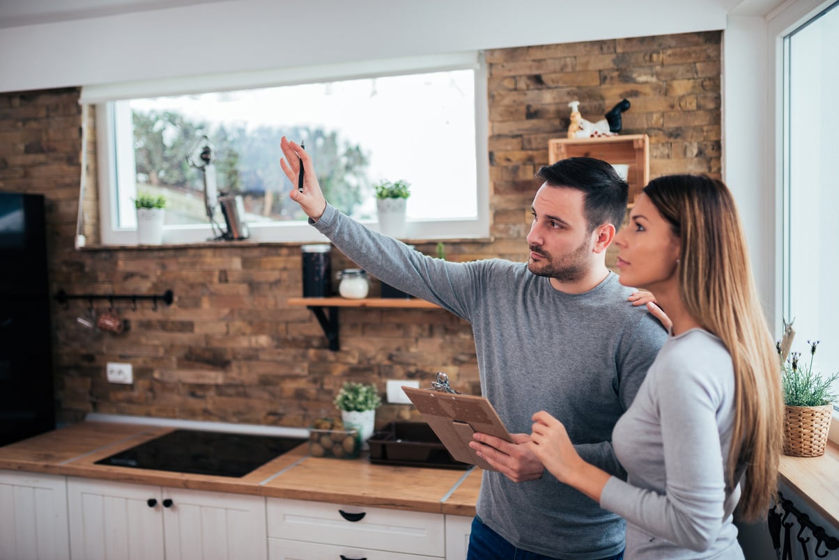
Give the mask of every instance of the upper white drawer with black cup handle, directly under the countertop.
POLYGON ((443 557, 445 535, 442 514, 268 498, 268 537, 443 557))

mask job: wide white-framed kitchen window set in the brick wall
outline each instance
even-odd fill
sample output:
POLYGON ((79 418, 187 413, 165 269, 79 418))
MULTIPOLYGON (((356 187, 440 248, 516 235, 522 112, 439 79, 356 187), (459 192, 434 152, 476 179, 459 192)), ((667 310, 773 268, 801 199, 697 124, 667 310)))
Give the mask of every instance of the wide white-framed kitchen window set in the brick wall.
POLYGON ((136 244, 140 192, 168 201, 165 243, 217 236, 221 209, 214 228, 190 164, 207 143, 216 189, 242 196, 253 241, 323 241, 289 199, 282 136, 305 143, 326 199, 373 228, 373 184, 404 179, 407 237, 486 237, 486 99, 476 53, 83 88, 96 105, 102 242, 136 244))

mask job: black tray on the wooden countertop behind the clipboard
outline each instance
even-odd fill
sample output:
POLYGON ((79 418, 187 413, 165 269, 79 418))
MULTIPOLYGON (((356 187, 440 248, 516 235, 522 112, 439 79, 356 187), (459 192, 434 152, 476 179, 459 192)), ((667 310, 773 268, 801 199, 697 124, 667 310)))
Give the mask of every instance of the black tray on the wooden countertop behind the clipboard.
POLYGON ((392 422, 367 439, 370 462, 438 469, 468 469, 452 459, 446 446, 425 422, 392 422))

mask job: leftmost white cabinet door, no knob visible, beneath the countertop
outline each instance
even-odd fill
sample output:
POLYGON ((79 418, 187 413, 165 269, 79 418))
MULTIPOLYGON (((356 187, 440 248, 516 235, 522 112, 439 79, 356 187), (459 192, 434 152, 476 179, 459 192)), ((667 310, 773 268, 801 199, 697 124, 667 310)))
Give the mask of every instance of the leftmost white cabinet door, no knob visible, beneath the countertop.
POLYGON ((0 558, 69 560, 67 531, 65 477, 0 470, 0 558))

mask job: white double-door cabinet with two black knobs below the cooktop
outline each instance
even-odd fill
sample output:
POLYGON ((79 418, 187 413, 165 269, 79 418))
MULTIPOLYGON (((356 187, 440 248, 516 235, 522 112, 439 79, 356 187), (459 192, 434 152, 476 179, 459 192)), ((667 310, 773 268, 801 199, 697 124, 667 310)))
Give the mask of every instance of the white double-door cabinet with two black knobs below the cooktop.
POLYGON ((265 499, 70 478, 76 560, 228 560, 268 556, 265 499))

